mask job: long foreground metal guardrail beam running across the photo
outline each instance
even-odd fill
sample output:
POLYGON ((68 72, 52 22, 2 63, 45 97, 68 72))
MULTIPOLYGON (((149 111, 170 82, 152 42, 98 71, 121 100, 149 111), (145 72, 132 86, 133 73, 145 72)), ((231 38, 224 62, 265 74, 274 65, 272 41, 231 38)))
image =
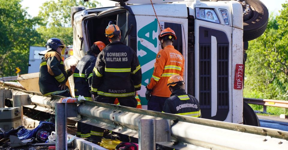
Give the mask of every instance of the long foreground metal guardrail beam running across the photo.
MULTIPOLYGON (((25 107, 47 113, 55 113, 56 103, 61 98, 61 96, 54 95, 43 96, 41 93, 17 88, 10 89, 12 89, 13 95, 29 94, 33 105, 25 107)), ((148 135, 151 134, 154 135, 150 136, 154 137, 152 141, 176 149, 287 149, 288 147, 288 132, 270 128, 160 113, 93 101, 83 101, 78 106, 78 114, 82 117, 69 119, 139 138, 140 149, 149 149, 145 147, 147 146, 145 142, 147 143, 151 139, 146 140, 145 138, 149 138, 148 135), (145 122, 147 119, 150 120, 145 122), (151 119, 154 120, 151 121, 151 119), (157 123, 158 120, 163 119, 168 120, 167 125, 157 123), (146 127, 151 128, 144 130, 146 127), (166 138, 167 135, 159 135, 159 133, 171 133, 172 139, 169 140, 166 138), (165 138, 168 140, 165 141, 165 138), (236 140, 241 142, 236 142, 236 140)))

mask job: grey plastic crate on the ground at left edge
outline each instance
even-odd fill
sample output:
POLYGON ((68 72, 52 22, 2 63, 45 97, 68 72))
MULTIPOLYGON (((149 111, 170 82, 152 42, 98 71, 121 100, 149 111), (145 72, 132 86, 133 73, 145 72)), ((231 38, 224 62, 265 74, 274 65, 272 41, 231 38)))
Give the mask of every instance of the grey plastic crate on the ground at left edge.
POLYGON ((0 128, 9 131, 21 125, 19 107, 0 108, 0 128))

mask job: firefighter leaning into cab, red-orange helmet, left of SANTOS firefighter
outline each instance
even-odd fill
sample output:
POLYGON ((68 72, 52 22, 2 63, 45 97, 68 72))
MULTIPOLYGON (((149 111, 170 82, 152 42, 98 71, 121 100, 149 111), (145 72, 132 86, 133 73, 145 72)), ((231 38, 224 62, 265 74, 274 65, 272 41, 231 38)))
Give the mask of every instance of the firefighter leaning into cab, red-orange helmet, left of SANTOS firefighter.
MULTIPOLYGON (((101 41, 95 42, 91 49, 86 55, 78 62, 76 69, 73 74, 74 78, 74 91, 75 97, 79 95, 84 96, 87 101, 92 101, 91 98, 91 82, 92 82, 92 71, 95 67, 97 55, 105 48, 105 44, 101 41)), ((89 138, 90 141, 98 139, 97 136, 103 136, 102 133, 98 133, 95 130, 98 127, 91 126, 82 122, 77 123, 77 136, 83 138, 89 138), (95 129, 96 128, 96 129, 95 129)))

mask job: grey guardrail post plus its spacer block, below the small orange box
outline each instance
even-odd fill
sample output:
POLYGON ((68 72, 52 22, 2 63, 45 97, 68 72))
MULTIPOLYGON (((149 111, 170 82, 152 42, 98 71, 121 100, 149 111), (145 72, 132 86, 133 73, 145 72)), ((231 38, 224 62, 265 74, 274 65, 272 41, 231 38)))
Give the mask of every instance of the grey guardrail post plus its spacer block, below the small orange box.
POLYGON ((56 103, 56 149, 67 150, 67 117, 77 117, 77 103, 56 103))

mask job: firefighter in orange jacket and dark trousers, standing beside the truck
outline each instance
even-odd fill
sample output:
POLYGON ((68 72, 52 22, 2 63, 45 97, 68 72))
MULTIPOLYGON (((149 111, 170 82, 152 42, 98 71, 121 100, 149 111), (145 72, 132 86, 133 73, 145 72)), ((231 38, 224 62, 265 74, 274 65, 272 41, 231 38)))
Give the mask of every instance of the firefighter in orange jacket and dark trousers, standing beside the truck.
POLYGON ((154 71, 150 83, 146 86, 145 95, 148 100, 148 110, 162 112, 165 100, 171 95, 166 86, 167 80, 172 75, 183 76, 184 58, 172 45, 177 38, 171 28, 162 30, 158 39, 162 49, 156 56, 154 71))

